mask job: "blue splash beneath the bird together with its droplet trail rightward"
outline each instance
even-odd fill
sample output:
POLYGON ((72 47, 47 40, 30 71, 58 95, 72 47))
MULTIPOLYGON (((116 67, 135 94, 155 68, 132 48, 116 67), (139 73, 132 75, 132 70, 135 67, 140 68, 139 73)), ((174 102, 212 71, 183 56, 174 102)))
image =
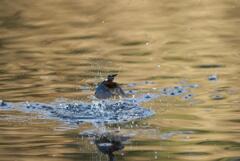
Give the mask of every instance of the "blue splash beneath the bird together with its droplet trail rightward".
MULTIPOLYGON (((50 103, 38 102, 0 102, 0 109, 12 107, 24 112, 40 113, 43 117, 59 119, 70 124, 115 124, 144 119, 154 115, 154 111, 141 107, 141 103, 158 99, 162 96, 183 96, 192 98, 189 93, 190 85, 155 89, 158 93, 139 94, 137 91, 132 97, 120 100, 92 100, 91 102, 58 99, 50 103), (159 92, 160 91, 160 92, 159 92), (187 95, 186 95, 187 94, 187 95), (184 96, 185 95, 185 96, 184 96)), ((185 100, 187 100, 185 98, 185 100)))

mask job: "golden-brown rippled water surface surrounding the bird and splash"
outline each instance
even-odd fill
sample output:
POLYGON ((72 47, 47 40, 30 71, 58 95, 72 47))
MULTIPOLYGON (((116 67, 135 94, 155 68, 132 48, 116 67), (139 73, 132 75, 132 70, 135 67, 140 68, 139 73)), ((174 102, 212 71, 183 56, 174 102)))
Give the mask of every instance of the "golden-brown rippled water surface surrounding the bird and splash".
POLYGON ((239 0, 1 0, 1 100, 89 103, 108 73, 162 95, 140 103, 154 116, 106 129, 1 108, 0 160, 104 161, 83 134, 116 129, 117 160, 240 160, 239 26, 239 0))

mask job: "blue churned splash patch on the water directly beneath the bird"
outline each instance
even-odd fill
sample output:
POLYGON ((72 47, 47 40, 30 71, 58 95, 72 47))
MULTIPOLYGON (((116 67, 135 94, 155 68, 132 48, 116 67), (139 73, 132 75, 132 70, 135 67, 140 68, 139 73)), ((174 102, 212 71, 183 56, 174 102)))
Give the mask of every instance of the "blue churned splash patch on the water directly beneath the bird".
POLYGON ((123 123, 143 119, 154 114, 130 101, 81 101, 61 100, 49 104, 37 102, 8 103, 2 102, 1 109, 16 107, 24 112, 37 112, 46 118, 57 118, 67 123, 123 123))

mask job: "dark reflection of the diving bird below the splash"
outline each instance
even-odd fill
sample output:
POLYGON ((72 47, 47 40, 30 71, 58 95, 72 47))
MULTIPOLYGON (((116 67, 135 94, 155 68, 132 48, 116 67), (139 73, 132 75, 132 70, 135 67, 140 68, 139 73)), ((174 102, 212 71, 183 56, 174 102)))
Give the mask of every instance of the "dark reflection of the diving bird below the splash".
POLYGON ((122 150, 124 148, 122 142, 128 139, 129 137, 104 133, 95 139, 95 144, 99 151, 108 155, 109 161, 115 161, 114 152, 122 150))

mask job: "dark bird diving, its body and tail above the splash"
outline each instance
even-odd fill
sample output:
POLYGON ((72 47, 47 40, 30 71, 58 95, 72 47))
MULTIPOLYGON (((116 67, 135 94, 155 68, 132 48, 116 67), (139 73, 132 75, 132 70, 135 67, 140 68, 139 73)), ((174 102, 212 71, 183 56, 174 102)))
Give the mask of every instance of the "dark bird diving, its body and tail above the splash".
POLYGON ((108 75, 107 79, 97 86, 95 96, 98 99, 126 96, 121 86, 113 81, 116 76, 117 74, 108 75))

